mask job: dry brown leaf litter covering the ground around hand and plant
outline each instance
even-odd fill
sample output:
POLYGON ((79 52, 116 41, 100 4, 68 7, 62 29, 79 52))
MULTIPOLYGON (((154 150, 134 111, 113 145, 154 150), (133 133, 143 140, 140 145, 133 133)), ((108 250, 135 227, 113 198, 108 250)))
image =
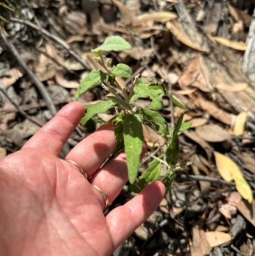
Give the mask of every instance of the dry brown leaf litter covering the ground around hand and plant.
MULTIPOLYGON (((75 89, 90 71, 85 66, 100 72, 101 66, 93 59, 91 49, 114 35, 129 41, 133 47, 107 56, 113 65, 121 61, 130 67, 116 66, 116 75, 124 77, 118 77, 119 84, 129 89, 131 76, 143 73, 142 77, 146 78, 156 74, 152 81, 164 79, 164 88, 179 100, 184 107, 184 119, 192 123, 188 131, 179 132, 180 154, 175 160, 177 165, 189 161, 193 164, 175 170, 171 192, 153 218, 136 230, 113 256, 124 255, 124 250, 126 255, 247 255, 247 248, 254 255, 255 86, 252 73, 242 69, 243 63, 252 64, 248 38, 255 34, 254 3, 116 0, 98 1, 89 7, 85 0, 30 1, 29 6, 27 1, 20 1, 19 6, 14 3, 8 1, 10 8, 0 6, 6 35, 50 92, 57 110, 75 100, 75 89), (219 10, 225 10, 223 20, 219 10), (14 16, 19 22, 4 22, 14 16), (47 29, 52 37, 38 33, 40 29, 47 29), (243 216, 245 225, 237 227, 238 216, 243 216), (238 230, 238 236, 231 235, 233 227, 238 230)), ((115 50, 107 44, 104 47, 115 50)), ((2 40, 0 49, 2 158, 17 151, 38 131, 39 127, 22 115, 21 110, 40 123, 51 116, 41 93, 28 93, 34 84, 2 40)), ((87 108, 93 118, 97 106, 100 109, 103 102, 110 102, 108 95, 95 87, 100 82, 91 78, 90 90, 79 98, 87 106, 98 104, 94 109, 87 108)), ((143 99, 134 101, 134 107, 149 111, 150 107, 163 106, 157 111, 156 123, 157 120, 162 123, 162 117, 173 132, 181 112, 177 113, 164 97, 162 102, 153 101, 154 93, 149 89, 141 86, 140 91, 143 99)), ((111 102, 109 105, 112 107, 111 102)), ((106 120, 115 115, 108 107, 103 114, 106 120)), ((103 123, 100 118, 94 118, 94 122, 96 126, 103 123)), ((142 127, 149 146, 139 169, 145 173, 145 180, 149 175, 145 172, 149 168, 145 160, 157 158, 161 148, 168 147, 161 136, 165 127, 160 123, 158 133, 147 125, 142 127)), ((84 137, 78 127, 68 147, 84 137)), ((129 143, 128 131, 125 137, 129 143)), ((134 159, 133 164, 138 165, 138 160, 134 159)), ((150 165, 152 172, 159 173, 161 169, 161 176, 168 172, 157 160, 154 165, 150 165)), ((123 192, 128 192, 125 189, 123 192)), ((132 196, 130 192, 120 193, 110 209, 132 196)))

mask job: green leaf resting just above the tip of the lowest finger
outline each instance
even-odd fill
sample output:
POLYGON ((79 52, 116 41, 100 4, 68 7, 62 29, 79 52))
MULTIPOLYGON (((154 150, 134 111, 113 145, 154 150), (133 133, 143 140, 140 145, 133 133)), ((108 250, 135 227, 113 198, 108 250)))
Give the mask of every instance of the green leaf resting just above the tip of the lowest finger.
POLYGON ((153 160, 149 164, 149 168, 143 172, 143 174, 139 177, 138 183, 131 184, 129 186, 129 190, 139 193, 140 191, 147 186, 147 184, 151 183, 152 181, 156 181, 160 174, 161 174, 161 163, 158 160, 153 160))

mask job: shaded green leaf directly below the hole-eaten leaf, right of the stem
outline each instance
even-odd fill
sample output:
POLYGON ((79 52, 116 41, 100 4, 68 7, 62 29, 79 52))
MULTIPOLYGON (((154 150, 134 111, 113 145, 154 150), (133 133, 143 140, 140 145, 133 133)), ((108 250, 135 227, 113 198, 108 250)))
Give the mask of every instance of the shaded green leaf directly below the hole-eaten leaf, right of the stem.
POLYGON ((162 135, 169 134, 168 124, 166 123, 166 120, 157 112, 149 109, 138 109, 136 110, 136 114, 138 114, 142 118, 143 124, 146 124, 147 126, 161 133, 162 135))

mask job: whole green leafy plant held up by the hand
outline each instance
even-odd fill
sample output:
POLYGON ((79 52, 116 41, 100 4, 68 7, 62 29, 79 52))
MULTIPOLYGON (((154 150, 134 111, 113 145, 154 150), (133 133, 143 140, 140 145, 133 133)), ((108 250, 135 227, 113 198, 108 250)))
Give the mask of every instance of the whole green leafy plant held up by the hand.
MULTIPOLYGON (((163 80, 158 83, 150 82, 148 79, 141 79, 140 75, 132 77, 132 70, 126 64, 117 64, 117 66, 110 66, 111 59, 103 55, 103 52, 120 51, 131 49, 131 45, 120 36, 111 36, 106 38, 103 45, 92 50, 96 61, 103 67, 105 72, 101 70, 92 70, 92 72, 85 77, 75 94, 75 99, 92 89, 93 87, 101 85, 110 96, 109 100, 105 102, 98 102, 94 105, 87 105, 87 114, 81 121, 81 124, 87 128, 87 131, 92 132, 96 127, 96 114, 105 113, 111 108, 115 108, 117 116, 113 120, 115 124, 114 132, 117 140, 117 147, 112 155, 114 156, 121 149, 125 149, 129 182, 129 188, 135 192, 140 192, 147 184, 159 178, 162 169, 162 163, 168 168, 163 177, 163 183, 166 186, 166 192, 170 189, 173 181, 173 171, 180 167, 177 165, 177 157, 179 154, 178 136, 181 130, 189 128, 189 124, 182 126, 182 119, 184 114, 181 114, 177 120, 177 124, 173 130, 168 128, 165 119, 154 110, 163 108, 162 96, 166 95, 170 98, 173 104, 180 109, 186 110, 182 104, 177 102, 173 96, 165 89, 163 80), (131 88, 127 90, 122 87, 115 77, 124 77, 131 80, 131 88), (150 109, 137 109, 131 105, 136 99, 144 96, 149 96, 152 102, 150 109), (152 160, 149 168, 143 172, 136 181, 138 168, 140 165, 140 154, 143 146, 143 129, 142 123, 146 124, 153 130, 161 133, 167 139, 167 149, 161 155, 161 158, 152 160), (135 183, 135 184, 133 184, 135 183)), ((182 164, 183 166, 189 163, 182 164)))

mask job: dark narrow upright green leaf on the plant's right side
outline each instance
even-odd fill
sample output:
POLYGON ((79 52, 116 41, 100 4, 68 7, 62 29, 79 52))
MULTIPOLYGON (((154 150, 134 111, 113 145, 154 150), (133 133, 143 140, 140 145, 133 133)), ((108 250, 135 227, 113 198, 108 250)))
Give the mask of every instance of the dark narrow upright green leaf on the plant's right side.
POLYGON ((179 154, 179 137, 178 132, 180 130, 180 126, 182 125, 182 119, 184 117, 184 113, 182 113, 178 120, 175 128, 173 130, 173 135, 171 137, 171 142, 168 148, 166 149, 166 162, 173 166, 176 165, 178 161, 178 154, 179 154))

